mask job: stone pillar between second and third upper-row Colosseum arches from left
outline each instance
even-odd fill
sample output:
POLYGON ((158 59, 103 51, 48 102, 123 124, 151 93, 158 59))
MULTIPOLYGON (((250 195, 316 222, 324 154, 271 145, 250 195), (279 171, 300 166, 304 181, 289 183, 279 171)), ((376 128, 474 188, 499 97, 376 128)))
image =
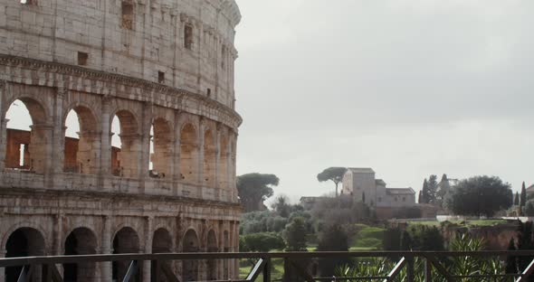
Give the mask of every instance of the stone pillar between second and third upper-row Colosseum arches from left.
MULTIPOLYGON (((101 136, 100 136, 100 169, 99 169, 99 188, 104 190, 104 179, 111 174, 111 119, 110 119, 110 98, 104 97, 102 103, 101 119, 101 136)), ((110 276, 111 278, 111 276, 110 276)))

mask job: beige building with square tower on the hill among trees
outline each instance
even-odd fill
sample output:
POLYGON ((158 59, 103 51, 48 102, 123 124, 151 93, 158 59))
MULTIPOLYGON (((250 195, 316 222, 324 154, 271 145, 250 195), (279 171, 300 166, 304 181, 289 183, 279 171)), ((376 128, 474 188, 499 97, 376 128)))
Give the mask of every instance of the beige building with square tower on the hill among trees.
POLYGON ((415 191, 412 188, 386 188, 386 182, 376 179, 371 168, 349 167, 343 176, 341 194, 351 195, 370 207, 413 207, 415 191))

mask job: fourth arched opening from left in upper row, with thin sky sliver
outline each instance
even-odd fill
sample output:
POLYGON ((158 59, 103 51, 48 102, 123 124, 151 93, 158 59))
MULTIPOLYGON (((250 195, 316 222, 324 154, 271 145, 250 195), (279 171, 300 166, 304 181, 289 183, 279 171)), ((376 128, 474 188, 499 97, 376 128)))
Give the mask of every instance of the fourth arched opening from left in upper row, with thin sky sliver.
POLYGON ((157 118, 152 125, 150 135, 150 170, 155 178, 170 176, 172 157, 172 132, 167 120, 157 118))

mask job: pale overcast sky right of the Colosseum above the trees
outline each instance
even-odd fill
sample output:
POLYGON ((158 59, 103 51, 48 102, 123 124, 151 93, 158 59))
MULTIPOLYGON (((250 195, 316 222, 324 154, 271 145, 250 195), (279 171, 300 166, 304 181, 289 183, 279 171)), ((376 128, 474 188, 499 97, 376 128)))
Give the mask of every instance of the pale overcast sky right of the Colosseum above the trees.
POLYGON ((238 174, 293 201, 329 166, 534 183, 534 1, 237 2, 238 174))

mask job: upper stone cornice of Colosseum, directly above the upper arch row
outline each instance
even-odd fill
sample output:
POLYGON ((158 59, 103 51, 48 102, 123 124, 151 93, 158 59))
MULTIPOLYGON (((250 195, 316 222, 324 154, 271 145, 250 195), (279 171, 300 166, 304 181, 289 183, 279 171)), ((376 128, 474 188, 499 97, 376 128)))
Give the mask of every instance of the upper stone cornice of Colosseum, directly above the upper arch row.
MULTIPOLYGON (((86 68, 81 68, 78 66, 72 66, 57 62, 51 61, 38 61, 33 59, 27 59, 22 57, 14 57, 10 55, 0 54, 0 65, 5 65, 8 67, 19 67, 24 69, 30 69, 33 71, 42 71, 47 73, 52 73, 57 78, 57 75, 63 75, 66 77, 75 77, 77 79, 88 79, 88 80, 98 80, 104 83, 113 83, 121 86, 131 87, 140 89, 143 93, 144 99, 138 99, 141 102, 151 101, 155 105, 161 105, 162 107, 167 107, 167 105, 162 105, 158 103, 156 99, 153 98, 155 94, 165 95, 171 99, 181 103, 184 100, 194 100, 204 105, 208 111, 219 111, 221 114, 224 114, 227 118, 232 120, 232 124, 228 125, 230 127, 239 127, 243 122, 243 118, 234 109, 226 107, 224 104, 215 101, 214 99, 209 99, 203 95, 196 94, 194 92, 187 91, 185 89, 176 89, 167 85, 159 84, 156 82, 151 82, 148 80, 141 80, 138 78, 132 78, 125 75, 105 72, 105 71, 96 71, 86 68)), ((5 74, 9 75, 9 74, 5 74)), ((9 80, 8 80, 9 81, 9 80)), ((68 82, 71 80, 63 81, 54 81, 53 87, 68 87, 68 82)), ((77 89, 72 89, 77 90, 77 89)), ((98 93, 102 95, 110 95, 111 93, 98 93)), ((112 96, 112 95, 110 95, 112 96)), ((183 108, 176 108, 183 109, 183 108)), ((223 121, 224 122, 224 121, 223 121)))

